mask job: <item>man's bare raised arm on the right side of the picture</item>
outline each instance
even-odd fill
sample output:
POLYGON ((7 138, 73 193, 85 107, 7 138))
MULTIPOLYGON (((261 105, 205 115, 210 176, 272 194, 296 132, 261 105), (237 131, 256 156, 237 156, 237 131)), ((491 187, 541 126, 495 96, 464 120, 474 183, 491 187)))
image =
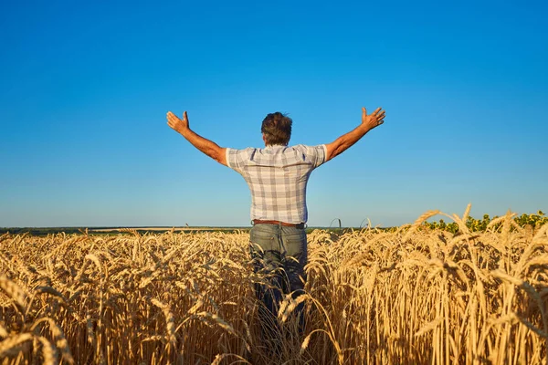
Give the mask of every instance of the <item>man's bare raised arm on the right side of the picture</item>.
POLYGON ((340 155, 343 151, 348 150, 355 142, 360 141, 364 137, 365 133, 369 130, 373 130, 375 127, 380 126, 385 122, 385 110, 377 108, 373 113, 367 115, 367 110, 362 108, 362 123, 354 130, 343 134, 341 137, 326 144, 327 156, 325 161, 330 161, 333 157, 340 155))

